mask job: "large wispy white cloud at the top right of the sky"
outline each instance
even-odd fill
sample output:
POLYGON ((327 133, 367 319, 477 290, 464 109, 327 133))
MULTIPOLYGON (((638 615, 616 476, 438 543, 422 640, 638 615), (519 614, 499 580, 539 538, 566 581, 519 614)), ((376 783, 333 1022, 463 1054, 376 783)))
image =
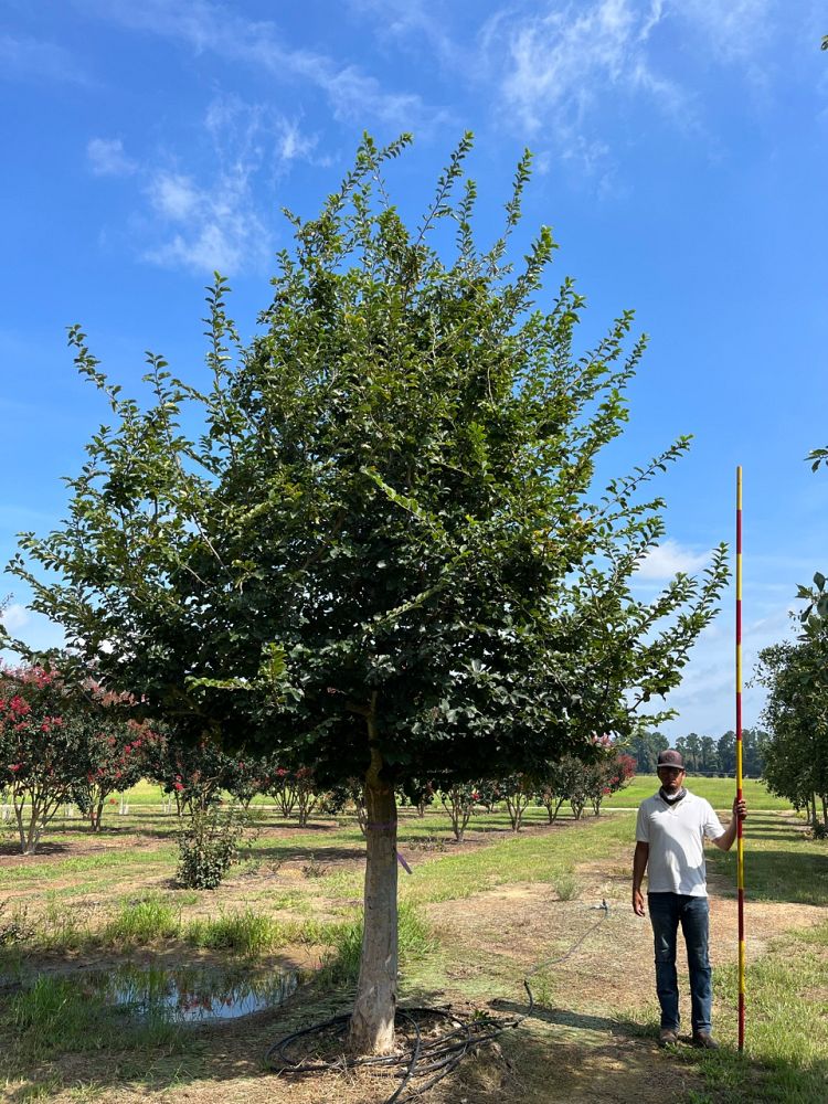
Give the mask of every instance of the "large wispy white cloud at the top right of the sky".
POLYGON ((779 10, 778 0, 546 0, 492 15, 479 34, 481 63, 502 118, 597 174, 620 145, 619 108, 634 102, 716 148, 699 84, 665 67, 675 59, 662 53, 665 35, 680 36, 691 68, 729 66, 755 91, 779 10))

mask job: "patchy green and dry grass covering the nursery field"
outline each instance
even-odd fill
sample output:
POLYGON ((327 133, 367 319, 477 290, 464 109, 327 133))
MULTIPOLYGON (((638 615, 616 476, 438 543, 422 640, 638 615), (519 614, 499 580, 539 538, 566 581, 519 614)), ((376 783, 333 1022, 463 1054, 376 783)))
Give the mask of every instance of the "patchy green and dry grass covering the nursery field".
MULTIPOLYGON (((655 790, 655 779, 639 779, 638 784, 643 787, 641 796, 655 790)), ((719 808, 730 804, 732 786, 729 779, 691 782, 697 793, 708 796, 719 808), (712 788, 705 792, 702 783, 710 783, 712 788)), ((749 783, 745 789, 751 810, 746 825, 749 910, 752 901, 827 905, 828 845, 796 830, 796 821, 782 816, 779 803, 767 794, 763 796, 761 786, 749 783)), ((314 1019, 315 1009, 317 1012, 319 1008, 327 1009, 335 998, 337 1010, 341 1010, 343 996, 347 997, 355 980, 362 943, 362 927, 355 915, 362 893, 362 870, 355 864, 350 869, 340 861, 363 853, 364 843, 355 826, 351 822, 336 827, 327 821, 311 830, 285 830, 285 822, 268 814, 266 831, 253 849, 255 862, 243 870, 236 868, 215 893, 178 890, 170 885, 176 852, 167 836, 169 821, 174 821, 174 817, 161 817, 157 793, 153 800, 155 809, 138 802, 129 817, 112 815, 112 825, 127 838, 130 831, 145 836, 141 847, 105 846, 94 853, 73 856, 74 840, 94 840, 94 837, 68 822, 65 831, 57 825, 49 837, 65 845, 65 852, 44 856, 34 862, 19 861, 0 871, 0 881, 6 881, 11 898, 0 912, 0 933, 4 923, 8 932, 7 967, 11 965, 12 952, 22 954, 25 969, 19 976, 25 978, 44 952, 53 964, 61 954, 72 962, 78 954, 94 958, 103 951, 112 958, 120 953, 128 956, 140 948, 142 959, 166 955, 183 963, 188 956, 210 960, 211 955, 215 958, 232 955, 245 960, 245 969, 246 962, 253 968, 261 968, 255 966, 257 958, 306 943, 325 948, 325 965, 319 984, 307 990, 310 996, 294 1001, 305 1009, 307 1021, 314 1019), (277 825, 280 830, 274 835, 272 829, 277 825), (308 1011, 310 1000, 316 1004, 308 1011)), ((616 802, 622 807, 634 806, 637 798, 628 789, 616 795, 616 802)), ((635 815, 618 808, 597 820, 585 817, 581 825, 564 816, 551 832, 532 830, 544 826, 545 819, 545 810, 530 809, 527 830, 514 836, 507 830, 502 811, 481 813, 469 826, 475 834, 473 840, 458 847, 450 841, 442 811, 432 810, 424 819, 408 809, 401 815, 401 847, 412 845, 406 857, 414 870, 413 877, 400 873, 401 966, 405 992, 416 992, 417 997, 422 994, 426 1002, 434 999, 435 990, 445 990, 452 1000, 459 995, 476 1007, 503 994, 519 1001, 527 959, 535 951, 539 960, 546 954, 555 957, 565 951, 573 942, 572 933, 577 935, 592 924, 596 914, 588 910, 595 903, 596 892, 606 893, 611 902, 609 919, 599 936, 607 941, 606 946, 602 944, 601 953, 595 955, 594 947, 584 945, 586 972, 578 973, 581 967, 575 956, 573 962, 537 976, 533 988, 541 1012, 526 1021, 520 1039, 514 1036, 503 1042, 509 1061, 517 1063, 505 1075, 505 1104, 522 1098, 544 1100, 546 1082, 542 1071, 550 1062, 563 1063, 569 1069, 572 1062, 584 1060, 587 1062, 584 1069, 588 1069, 591 1048, 601 1052, 607 1038, 614 1034, 623 1037, 626 1032, 624 1045, 630 1052, 640 1051, 646 1061, 662 1061, 652 1043, 656 1021, 650 996, 650 953, 639 955, 627 946, 630 938, 644 940, 641 946, 647 943, 644 927, 634 930, 627 903, 635 815), (479 846, 480 840, 488 840, 490 846, 479 846), (487 896, 478 896, 481 893, 487 896), (507 927, 499 937, 500 920, 489 917, 487 910, 490 904, 510 900, 509 893, 513 893, 518 903, 513 916, 508 912, 502 914, 507 927), (543 907, 558 917, 543 936, 535 934, 531 921, 519 912, 524 900, 543 902, 543 907), (454 917, 460 914, 465 919, 477 915, 480 923, 455 925, 454 917), (561 926, 555 927, 559 920, 561 926), (484 930, 485 937, 480 934, 484 930), (508 934, 511 931, 513 936, 508 934), (517 948, 521 938, 523 957, 517 948), (623 1000, 592 981, 596 970, 599 974, 606 968, 615 970, 620 985, 633 986, 629 991, 634 991, 633 975, 627 974, 624 965, 616 964, 616 958, 624 954, 633 955, 640 966, 649 1004, 641 1002, 645 992, 641 988, 636 1009, 622 1019, 623 1000), (545 1021, 543 1016, 552 1018, 545 1021), (614 1025, 609 1036, 601 1027, 591 1026, 602 1023, 614 1025), (636 1032, 638 1038, 630 1038, 636 1032), (555 1049, 562 1039, 565 1052, 555 1049), (516 1087, 521 1084, 537 1085, 537 1094, 521 1097, 516 1087)), ((108 842, 112 845, 112 838, 108 842)), ((735 853, 722 854, 709 849, 708 863, 715 891, 732 894, 735 853)), ((793 911, 790 914, 794 915, 793 911)), ((535 919, 539 915, 535 913, 535 919)), ((749 911, 749 951, 750 923, 749 911)), ((819 1092, 828 1072, 827 959, 828 924, 777 940, 762 958, 749 957, 749 1048, 743 1057, 732 1045, 734 970, 718 968, 716 1029, 721 1026, 725 1047, 713 1055, 688 1050, 679 1057, 679 1061, 687 1062, 692 1082, 681 1098, 692 1098, 697 1104, 722 1098, 740 1104, 749 1101, 811 1104, 822 1098, 819 1092)), ((190 1032, 188 1040, 182 1041, 164 1034, 169 1025, 149 1023, 140 1029, 146 1032, 141 1036, 134 1030, 135 1026, 126 1023, 121 1012, 100 1008, 96 1011, 94 1007, 78 1009, 76 999, 61 986, 60 975, 44 974, 43 978, 43 986, 36 992, 32 988, 9 998, 0 1012, 0 1086, 3 1076, 11 1079, 8 1084, 17 1085, 14 1100, 46 1098, 60 1092, 61 1101, 114 1102, 118 1098, 118 1086, 110 1073, 113 1068, 134 1081, 136 1092, 148 1100, 160 1100, 164 1092, 169 1094, 170 1071, 176 1063, 164 1064, 158 1055, 184 1047, 190 1048, 185 1059, 188 1083, 190 1079, 210 1082, 210 1059, 194 1042, 202 1029, 190 1032), (63 1022, 53 1027, 55 1017, 76 1022, 77 1030, 63 1022), (99 1041, 93 1044, 94 1039, 99 1041), (83 1084, 77 1081, 77 1066, 68 1063, 64 1069, 61 1058, 81 1050, 85 1054, 83 1084), (130 1057, 124 1057, 125 1051, 130 1057), (150 1073, 150 1069, 156 1072, 150 1073), (21 1078, 26 1079, 26 1085, 20 1083, 21 1078), (76 1096, 67 1095, 73 1091, 76 1096)), ((286 1015, 290 1015, 289 1010, 286 1015)), ((255 1026, 244 1030, 240 1027, 235 1034, 233 1028, 224 1026, 209 1030, 212 1032, 209 1050, 214 1051, 214 1057, 225 1054, 224 1039, 242 1040, 238 1045, 245 1054, 258 1045, 253 1038, 255 1026), (253 1033, 250 1040, 248 1031, 253 1033)), ((263 1049, 264 1039, 258 1052, 263 1049)), ((229 1058, 225 1054, 219 1064, 222 1068, 227 1061, 232 1064, 237 1053, 229 1058)), ((469 1062, 467 1072, 473 1078, 478 1061, 482 1058, 469 1062)), ((581 1075, 581 1086, 586 1085, 584 1076, 588 1074, 581 1075)), ((198 1101, 198 1090, 192 1092, 198 1101)), ((287 1094, 289 1090, 268 1082, 262 1092, 267 1092, 273 1104, 283 1104, 288 1100, 283 1092, 287 1094)), ((646 1092, 639 1096, 647 1098, 646 1092)), ((479 1098, 490 1097, 480 1094, 479 1098)), ((585 1097, 573 1093, 572 1098, 585 1097)), ((299 1096, 299 1100, 310 1097, 299 1096)))

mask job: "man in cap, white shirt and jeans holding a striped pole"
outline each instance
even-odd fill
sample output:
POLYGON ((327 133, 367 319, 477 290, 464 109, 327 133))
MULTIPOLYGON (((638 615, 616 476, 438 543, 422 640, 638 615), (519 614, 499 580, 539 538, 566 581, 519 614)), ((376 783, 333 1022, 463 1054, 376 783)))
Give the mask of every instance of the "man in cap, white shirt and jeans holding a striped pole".
POLYGON ((733 802, 726 828, 709 802, 684 788, 684 761, 672 749, 659 752, 661 788, 641 802, 633 860, 633 911, 644 916, 641 882, 649 868, 647 901, 656 944, 656 992, 661 1005, 660 1044, 679 1039, 679 985, 676 975, 676 934, 679 924, 690 970, 693 1045, 715 1050, 711 1034, 712 974, 708 958, 708 887, 704 837, 722 851, 736 838, 736 826, 747 816, 744 802, 733 802))

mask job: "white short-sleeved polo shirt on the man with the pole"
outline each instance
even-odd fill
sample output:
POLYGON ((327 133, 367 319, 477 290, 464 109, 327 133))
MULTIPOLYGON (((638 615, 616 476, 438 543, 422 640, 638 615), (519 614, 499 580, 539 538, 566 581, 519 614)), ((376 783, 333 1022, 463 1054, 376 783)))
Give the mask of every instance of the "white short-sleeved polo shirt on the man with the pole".
POLYGON ((660 794, 641 802, 636 840, 650 847, 648 892, 707 896, 704 837, 718 839, 723 834, 710 802, 696 794, 688 793, 673 805, 660 794))

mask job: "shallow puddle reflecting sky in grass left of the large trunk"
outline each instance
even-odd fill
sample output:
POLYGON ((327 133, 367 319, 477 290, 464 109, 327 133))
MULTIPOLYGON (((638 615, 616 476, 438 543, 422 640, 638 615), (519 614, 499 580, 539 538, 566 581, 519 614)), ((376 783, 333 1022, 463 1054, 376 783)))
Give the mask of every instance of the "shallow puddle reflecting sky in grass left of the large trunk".
POLYGON ((294 972, 262 975, 182 966, 116 966, 85 970, 77 979, 84 995, 147 1019, 163 1016, 176 1023, 231 1020, 275 1008, 296 989, 294 972))

